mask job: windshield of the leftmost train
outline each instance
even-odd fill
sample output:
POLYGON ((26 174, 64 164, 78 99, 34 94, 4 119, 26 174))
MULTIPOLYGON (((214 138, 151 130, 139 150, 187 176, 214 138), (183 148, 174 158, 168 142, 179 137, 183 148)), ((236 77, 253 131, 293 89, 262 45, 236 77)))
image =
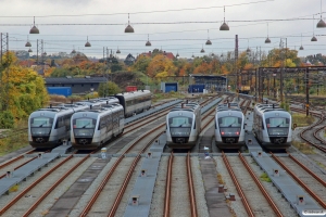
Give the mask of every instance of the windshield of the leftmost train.
POLYGON ((33 117, 30 118, 30 132, 33 136, 49 136, 51 132, 53 118, 33 117))

